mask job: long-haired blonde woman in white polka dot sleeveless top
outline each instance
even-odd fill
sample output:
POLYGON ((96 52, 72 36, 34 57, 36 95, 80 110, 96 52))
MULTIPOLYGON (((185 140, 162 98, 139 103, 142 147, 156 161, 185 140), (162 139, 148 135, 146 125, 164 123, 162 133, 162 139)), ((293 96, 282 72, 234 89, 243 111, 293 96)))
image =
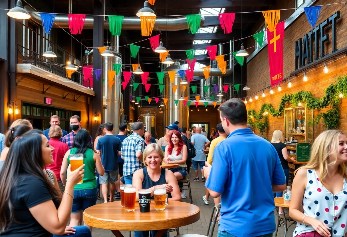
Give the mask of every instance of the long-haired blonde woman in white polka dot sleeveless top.
POLYGON ((319 134, 307 165, 296 170, 289 215, 293 237, 344 237, 347 232, 347 138, 340 130, 319 134), (318 235, 317 235, 318 234, 318 235))

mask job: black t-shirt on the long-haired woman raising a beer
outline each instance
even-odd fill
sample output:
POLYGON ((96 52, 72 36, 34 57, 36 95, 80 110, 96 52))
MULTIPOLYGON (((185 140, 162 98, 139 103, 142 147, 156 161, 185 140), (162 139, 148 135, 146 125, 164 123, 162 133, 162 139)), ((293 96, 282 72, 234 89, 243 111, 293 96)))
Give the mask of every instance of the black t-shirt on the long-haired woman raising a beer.
POLYGON ((15 221, 0 233, 1 236, 53 236, 36 221, 29 211, 29 208, 52 200, 48 187, 41 179, 29 174, 19 175, 17 184, 11 191, 10 200, 14 209, 15 221))

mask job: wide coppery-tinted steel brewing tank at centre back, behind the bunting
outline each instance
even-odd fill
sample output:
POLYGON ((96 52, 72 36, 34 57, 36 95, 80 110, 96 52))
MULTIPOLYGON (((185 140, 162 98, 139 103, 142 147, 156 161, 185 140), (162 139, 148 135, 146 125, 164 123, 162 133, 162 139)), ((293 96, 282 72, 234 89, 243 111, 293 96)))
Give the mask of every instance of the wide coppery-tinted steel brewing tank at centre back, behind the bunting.
MULTIPOLYGON (((163 108, 163 114, 164 114, 164 119, 163 119, 163 134, 166 132, 166 126, 168 126, 170 123, 174 123, 175 121, 179 122, 180 128, 182 127, 187 127, 189 125, 189 108, 187 106, 183 105, 183 101, 179 100, 178 104, 176 106, 175 104, 175 99, 179 99, 181 96, 189 97, 189 84, 186 84, 186 89, 184 90, 182 94, 182 89, 181 84, 181 77, 179 76, 178 72, 179 70, 185 70, 186 68, 179 65, 179 64, 173 64, 164 71, 176 71, 175 74, 175 80, 174 83, 171 84, 170 78, 168 73, 165 73, 164 76, 164 98, 168 98, 167 104, 163 108), (172 85, 177 86, 177 90, 174 93, 172 90, 172 85)), ((184 78, 187 80, 187 76, 185 75, 184 78)))

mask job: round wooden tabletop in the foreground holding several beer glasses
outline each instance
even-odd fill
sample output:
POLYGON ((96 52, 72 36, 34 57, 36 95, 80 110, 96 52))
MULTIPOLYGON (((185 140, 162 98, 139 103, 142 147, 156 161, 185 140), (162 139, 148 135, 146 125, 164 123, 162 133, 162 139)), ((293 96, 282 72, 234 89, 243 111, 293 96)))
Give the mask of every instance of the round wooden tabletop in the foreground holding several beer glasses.
POLYGON ((190 225, 200 219, 200 209, 193 204, 169 201, 163 211, 140 212, 138 202, 135 211, 127 212, 120 202, 94 205, 83 212, 87 225, 108 230, 163 230, 190 225))

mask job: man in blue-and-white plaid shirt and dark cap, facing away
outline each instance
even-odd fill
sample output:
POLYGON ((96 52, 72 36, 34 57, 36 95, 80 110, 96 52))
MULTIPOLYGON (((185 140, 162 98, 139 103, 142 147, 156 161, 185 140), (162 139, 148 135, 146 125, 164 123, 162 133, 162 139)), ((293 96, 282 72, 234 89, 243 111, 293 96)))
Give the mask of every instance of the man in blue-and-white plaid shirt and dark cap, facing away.
POLYGON ((144 126, 140 122, 133 125, 133 133, 122 142, 121 153, 124 159, 123 177, 125 184, 133 184, 133 174, 143 167, 142 151, 145 140, 142 136, 145 132, 144 126))

